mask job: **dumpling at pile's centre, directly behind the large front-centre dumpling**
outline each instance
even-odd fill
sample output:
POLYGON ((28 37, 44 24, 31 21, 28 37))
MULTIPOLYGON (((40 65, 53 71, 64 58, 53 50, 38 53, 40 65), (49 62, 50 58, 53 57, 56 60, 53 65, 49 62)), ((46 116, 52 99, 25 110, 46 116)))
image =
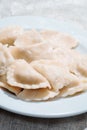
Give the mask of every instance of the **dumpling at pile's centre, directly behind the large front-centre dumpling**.
POLYGON ((56 56, 54 48, 45 43, 31 46, 26 51, 31 61, 39 59, 53 59, 56 56))

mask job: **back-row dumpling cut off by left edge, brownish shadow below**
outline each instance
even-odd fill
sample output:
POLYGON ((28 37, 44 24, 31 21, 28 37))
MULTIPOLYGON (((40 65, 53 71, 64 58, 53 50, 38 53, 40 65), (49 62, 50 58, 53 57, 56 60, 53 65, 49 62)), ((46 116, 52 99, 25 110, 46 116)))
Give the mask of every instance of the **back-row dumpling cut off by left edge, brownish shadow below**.
POLYGON ((23 33, 20 26, 9 26, 0 30, 0 42, 12 45, 16 38, 23 33))

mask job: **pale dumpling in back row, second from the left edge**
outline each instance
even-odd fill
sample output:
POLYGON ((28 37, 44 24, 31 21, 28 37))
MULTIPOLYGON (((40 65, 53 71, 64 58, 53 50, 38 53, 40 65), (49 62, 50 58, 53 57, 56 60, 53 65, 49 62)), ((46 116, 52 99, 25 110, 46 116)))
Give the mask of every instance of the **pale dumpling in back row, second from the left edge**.
POLYGON ((27 48, 33 44, 40 43, 43 41, 42 36, 36 30, 25 31, 21 36, 14 42, 15 46, 27 48))

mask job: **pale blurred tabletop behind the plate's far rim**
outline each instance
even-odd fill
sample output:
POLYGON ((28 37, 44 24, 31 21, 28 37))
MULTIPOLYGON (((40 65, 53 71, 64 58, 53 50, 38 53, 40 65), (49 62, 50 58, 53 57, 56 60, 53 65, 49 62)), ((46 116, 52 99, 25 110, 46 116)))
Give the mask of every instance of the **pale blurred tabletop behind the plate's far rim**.
POLYGON ((70 20, 87 29, 87 0, 0 0, 0 18, 14 15, 70 20))

